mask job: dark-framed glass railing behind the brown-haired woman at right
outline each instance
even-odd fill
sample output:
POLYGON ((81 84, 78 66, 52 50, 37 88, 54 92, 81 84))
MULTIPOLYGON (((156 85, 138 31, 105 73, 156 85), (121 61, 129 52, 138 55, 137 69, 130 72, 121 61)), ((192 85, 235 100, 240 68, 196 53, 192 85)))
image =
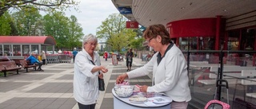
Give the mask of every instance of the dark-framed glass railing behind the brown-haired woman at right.
MULTIPOLYGON (((239 108, 238 106, 256 107, 256 76, 250 78, 238 77, 232 75, 240 75, 242 70, 237 72, 226 71, 226 68, 238 67, 255 70, 256 52, 227 50, 190 50, 182 52, 187 60, 188 76, 190 78, 189 84, 192 95, 190 105, 193 105, 194 108, 203 108, 208 101, 214 99, 215 94, 217 99, 226 102, 227 92, 224 90, 225 88, 216 87, 216 82, 214 82, 216 80, 228 81, 230 87, 229 103, 231 107, 233 106, 232 108, 239 108), (213 66, 218 67, 216 72, 211 72, 213 66), (213 74, 217 77, 213 78, 213 74), (242 80, 249 80, 251 83, 255 82, 255 84, 245 85, 241 83, 242 80), (215 89, 217 89, 217 93, 215 89), (237 99, 242 99, 245 104, 240 104, 237 99)), ((222 85, 222 83, 220 84, 222 85)))

